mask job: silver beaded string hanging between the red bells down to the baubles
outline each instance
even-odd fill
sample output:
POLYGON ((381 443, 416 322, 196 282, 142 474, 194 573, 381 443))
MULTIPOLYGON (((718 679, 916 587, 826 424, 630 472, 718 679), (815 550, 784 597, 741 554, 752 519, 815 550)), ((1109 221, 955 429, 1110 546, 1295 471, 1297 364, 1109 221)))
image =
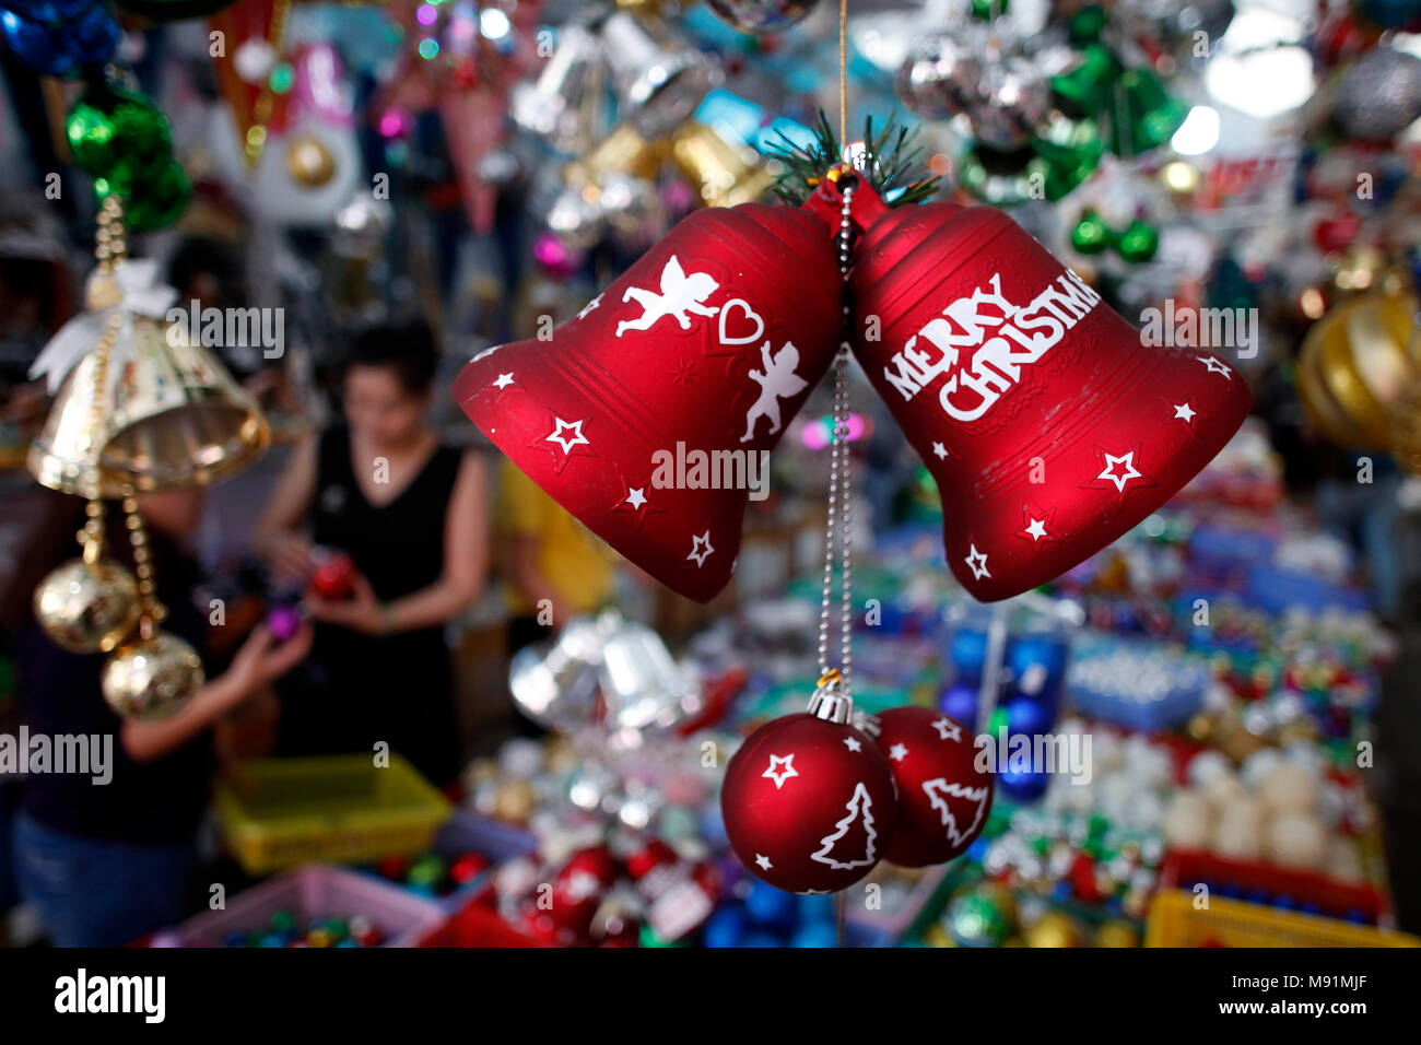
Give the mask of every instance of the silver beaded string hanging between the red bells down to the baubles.
MULTIPOLYGON (((838 220, 838 272, 844 280, 843 328, 848 330, 848 212, 854 199, 854 186, 845 185, 840 205, 838 220)), ((827 677, 828 665, 828 616, 834 590, 836 529, 838 530, 840 560, 840 640, 838 640, 838 687, 844 697, 853 697, 850 672, 853 670, 853 475, 848 463, 848 341, 840 340, 834 357, 834 422, 828 445, 828 510, 824 520, 824 584, 818 606, 818 672, 827 677)))

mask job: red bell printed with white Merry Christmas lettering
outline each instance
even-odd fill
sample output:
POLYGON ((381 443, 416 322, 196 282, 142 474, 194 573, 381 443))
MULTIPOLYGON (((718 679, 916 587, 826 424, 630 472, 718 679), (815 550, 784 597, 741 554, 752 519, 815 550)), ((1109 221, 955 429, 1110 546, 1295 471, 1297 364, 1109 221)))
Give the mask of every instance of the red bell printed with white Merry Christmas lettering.
POLYGON ((890 210, 867 186, 854 350, 942 496, 944 543, 982 601, 1106 547, 1248 415, 1208 350, 1155 345, 1000 210, 890 210))

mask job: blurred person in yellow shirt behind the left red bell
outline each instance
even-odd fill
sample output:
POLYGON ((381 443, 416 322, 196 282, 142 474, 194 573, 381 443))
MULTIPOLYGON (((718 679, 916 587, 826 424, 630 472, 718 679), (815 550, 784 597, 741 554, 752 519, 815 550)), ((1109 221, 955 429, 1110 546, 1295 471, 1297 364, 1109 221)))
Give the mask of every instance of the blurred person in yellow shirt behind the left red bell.
POLYGON ((499 482, 507 546, 507 653, 611 601, 615 554, 507 458, 499 482))

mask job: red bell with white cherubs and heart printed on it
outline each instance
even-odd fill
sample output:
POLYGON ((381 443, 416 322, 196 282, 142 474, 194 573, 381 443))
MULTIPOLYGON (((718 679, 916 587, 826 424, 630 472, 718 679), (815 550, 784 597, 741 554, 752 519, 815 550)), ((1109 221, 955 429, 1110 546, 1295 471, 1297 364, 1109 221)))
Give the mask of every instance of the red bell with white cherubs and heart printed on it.
POLYGON ((550 340, 479 353, 455 397, 588 529, 706 601, 735 569, 747 488, 838 343, 823 213, 699 210, 550 340))

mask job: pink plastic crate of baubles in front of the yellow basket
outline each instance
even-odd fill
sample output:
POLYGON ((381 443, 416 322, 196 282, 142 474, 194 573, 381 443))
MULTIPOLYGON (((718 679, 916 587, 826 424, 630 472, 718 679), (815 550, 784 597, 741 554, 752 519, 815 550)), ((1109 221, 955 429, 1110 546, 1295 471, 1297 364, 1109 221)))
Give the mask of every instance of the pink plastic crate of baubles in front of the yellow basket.
POLYGON ((364 914, 385 936, 381 947, 411 947, 445 920, 439 904, 404 889, 340 867, 307 864, 229 897, 226 910, 196 914, 152 943, 222 947, 233 933, 261 930, 279 910, 291 911, 298 926, 364 914))

